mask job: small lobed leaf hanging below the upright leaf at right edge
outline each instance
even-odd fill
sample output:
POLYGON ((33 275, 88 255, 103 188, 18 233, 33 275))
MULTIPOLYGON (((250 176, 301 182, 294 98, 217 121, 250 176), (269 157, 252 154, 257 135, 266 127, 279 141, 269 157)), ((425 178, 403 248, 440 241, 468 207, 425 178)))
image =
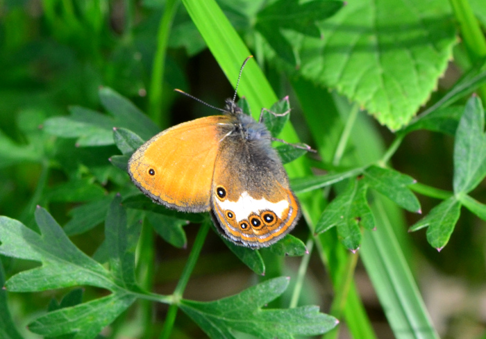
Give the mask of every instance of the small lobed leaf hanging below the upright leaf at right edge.
POLYGON ((430 210, 426 217, 410 227, 410 231, 428 226, 427 241, 440 251, 451 238, 455 223, 459 219, 460 208, 460 202, 455 197, 450 197, 430 210))

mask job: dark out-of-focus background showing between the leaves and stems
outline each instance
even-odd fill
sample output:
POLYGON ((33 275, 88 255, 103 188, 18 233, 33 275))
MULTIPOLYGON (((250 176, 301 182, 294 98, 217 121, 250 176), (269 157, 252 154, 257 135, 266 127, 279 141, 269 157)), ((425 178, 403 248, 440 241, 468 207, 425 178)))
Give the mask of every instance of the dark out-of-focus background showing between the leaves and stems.
MULTIPOLYGON (((162 0, 0 1, 0 215, 35 228, 33 210, 40 204, 64 225, 71 219, 72 208, 126 186, 128 176, 108 163, 110 156, 119 154, 116 147, 97 147, 97 157, 93 158, 90 147, 76 147, 74 139, 44 133, 42 124, 49 117, 67 115, 69 106, 103 111, 98 94, 100 86, 114 89, 144 112, 149 112, 148 89, 164 6, 162 0), (84 192, 73 186, 72 190, 77 193, 69 196, 65 183, 73 181, 76 185, 97 185, 84 192)), ((233 26, 244 35, 246 27, 238 13, 231 10, 227 1, 221 6, 233 26)), ((233 96, 233 87, 206 49, 183 6, 176 12, 168 47, 159 107, 160 128, 217 114, 172 91, 179 88, 217 107, 233 96)), ((454 53, 458 62, 450 63, 437 92, 432 94, 432 101, 451 87, 467 65, 464 47, 456 46, 454 53)), ((262 64, 278 97, 290 95, 292 124, 301 140, 312 145, 290 81, 276 64, 262 64)), ((388 129, 372 117, 364 119, 380 133, 385 143, 392 142, 388 129)), ((451 136, 416 131, 405 138, 392 162, 395 169, 421 183, 451 190, 452 158, 451 136)), ((486 183, 483 182, 472 196, 486 201, 486 183)), ((426 213, 438 202, 422 196, 419 199, 426 213)), ((405 218, 410 226, 420 216, 406 213, 405 218)), ((449 244, 440 253, 428 245, 423 231, 405 235, 412 244, 408 261, 433 323, 443 338, 481 338, 485 333, 485 226, 484 221, 464 211, 449 244)), ((192 224, 185 227, 189 248, 197 228, 192 224)), ((403 233, 405 231, 406 228, 403 233)), ((305 240, 308 231, 301 226, 292 234, 305 240)), ((99 225, 90 232, 73 236, 72 240, 92 255, 103 236, 103 226, 99 225)), ((154 288, 156 292, 170 294, 188 250, 171 247, 160 238, 156 238, 155 248, 154 288)), ((7 276, 35 266, 11 258, 1 259, 7 276)), ((278 267, 279 272, 295 275, 298 265, 299 258, 288 258, 285 267, 278 267)), ((271 267, 267 270, 271 271, 271 267)), ((390 338, 392 332, 361 263, 358 263, 355 279, 378 337, 390 338)), ((255 280, 251 271, 210 232, 185 297, 218 299, 239 292, 255 280)), ((328 280, 314 254, 305 281, 308 288, 303 290, 301 303, 318 304, 322 311, 328 312, 332 300, 328 280)), ((52 297, 60 298, 65 292, 10 293, 10 311, 18 328, 24 329, 33 317, 45 310, 52 297)), ((103 292, 87 288, 85 293, 90 299, 103 292)), ((167 306, 156 305, 154 315, 159 329, 166 312, 167 306)), ((141 338, 144 323, 137 320, 137 315, 140 311, 131 309, 129 321, 122 326, 124 336, 119 338, 141 338)), ((340 338, 348 338, 346 331, 341 335, 340 338)), ((32 334, 26 336, 39 338, 32 334)), ((205 335, 183 313, 178 313, 174 338, 205 338, 205 335)))

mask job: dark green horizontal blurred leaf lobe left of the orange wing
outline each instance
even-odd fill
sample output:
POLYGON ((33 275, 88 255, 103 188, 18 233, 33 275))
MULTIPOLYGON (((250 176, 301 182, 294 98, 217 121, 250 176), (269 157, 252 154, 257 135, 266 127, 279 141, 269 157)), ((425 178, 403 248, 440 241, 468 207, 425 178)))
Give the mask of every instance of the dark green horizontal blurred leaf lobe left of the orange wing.
POLYGON ((93 201, 102 199, 106 192, 90 179, 73 179, 49 189, 46 197, 49 201, 93 201))

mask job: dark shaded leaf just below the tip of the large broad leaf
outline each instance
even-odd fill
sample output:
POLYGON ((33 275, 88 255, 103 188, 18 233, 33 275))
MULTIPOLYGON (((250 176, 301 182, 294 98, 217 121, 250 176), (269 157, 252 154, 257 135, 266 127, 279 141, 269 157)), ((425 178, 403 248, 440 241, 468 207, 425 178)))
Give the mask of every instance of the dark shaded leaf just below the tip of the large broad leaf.
POLYGON ((449 106, 434 110, 428 115, 424 115, 413 124, 407 126, 403 133, 410 133, 419 129, 426 129, 448 135, 455 135, 458 129, 459 120, 464 113, 463 106, 449 106))

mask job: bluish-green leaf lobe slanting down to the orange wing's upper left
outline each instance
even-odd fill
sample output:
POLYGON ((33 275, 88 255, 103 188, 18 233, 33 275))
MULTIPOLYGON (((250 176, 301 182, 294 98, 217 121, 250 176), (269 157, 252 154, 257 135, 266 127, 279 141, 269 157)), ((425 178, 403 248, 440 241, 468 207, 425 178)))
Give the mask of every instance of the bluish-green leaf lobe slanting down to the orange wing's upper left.
POLYGON ((111 88, 100 88, 99 98, 106 110, 115 117, 117 127, 130 129, 143 140, 149 140, 160 132, 149 117, 111 88))

